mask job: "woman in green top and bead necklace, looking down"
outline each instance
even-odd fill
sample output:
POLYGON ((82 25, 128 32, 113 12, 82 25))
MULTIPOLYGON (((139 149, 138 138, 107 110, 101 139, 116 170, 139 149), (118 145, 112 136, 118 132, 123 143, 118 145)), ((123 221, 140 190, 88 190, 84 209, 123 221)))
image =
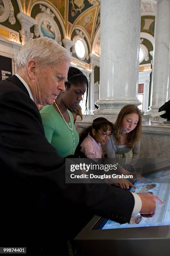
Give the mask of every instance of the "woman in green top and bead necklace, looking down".
POLYGON ((68 108, 78 107, 86 89, 88 93, 87 77, 79 69, 70 67, 65 92, 57 96, 53 105, 40 110, 45 136, 62 157, 73 155, 78 145, 79 136, 68 108))

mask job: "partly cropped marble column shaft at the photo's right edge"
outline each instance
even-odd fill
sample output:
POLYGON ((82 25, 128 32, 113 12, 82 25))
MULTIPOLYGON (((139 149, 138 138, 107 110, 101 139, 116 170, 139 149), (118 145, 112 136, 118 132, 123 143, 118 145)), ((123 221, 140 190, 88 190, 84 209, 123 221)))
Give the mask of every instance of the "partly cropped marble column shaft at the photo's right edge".
POLYGON ((170 0, 157 0, 153 54, 152 98, 149 114, 167 101, 170 54, 170 0))

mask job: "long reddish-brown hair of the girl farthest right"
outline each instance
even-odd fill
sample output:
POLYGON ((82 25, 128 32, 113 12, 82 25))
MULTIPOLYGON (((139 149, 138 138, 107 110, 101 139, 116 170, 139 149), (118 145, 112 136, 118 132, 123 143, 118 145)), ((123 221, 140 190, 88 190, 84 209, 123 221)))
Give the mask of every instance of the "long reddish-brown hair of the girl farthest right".
POLYGON ((135 105, 125 105, 121 110, 119 115, 117 116, 117 120, 114 124, 114 135, 115 135, 115 140, 117 144, 120 144, 120 136, 122 133, 122 121, 123 118, 126 115, 136 113, 139 116, 139 121, 138 124, 136 125, 135 129, 131 131, 130 133, 127 134, 127 144, 126 146, 128 148, 134 148, 135 144, 138 143, 141 137, 142 133, 142 117, 140 110, 138 109, 137 106, 135 105))

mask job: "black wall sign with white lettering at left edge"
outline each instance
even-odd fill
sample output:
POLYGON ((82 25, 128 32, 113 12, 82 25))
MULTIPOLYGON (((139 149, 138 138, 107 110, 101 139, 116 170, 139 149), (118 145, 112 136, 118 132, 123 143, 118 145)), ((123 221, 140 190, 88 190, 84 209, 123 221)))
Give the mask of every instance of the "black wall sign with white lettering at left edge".
POLYGON ((0 80, 12 76, 12 59, 0 56, 0 80))

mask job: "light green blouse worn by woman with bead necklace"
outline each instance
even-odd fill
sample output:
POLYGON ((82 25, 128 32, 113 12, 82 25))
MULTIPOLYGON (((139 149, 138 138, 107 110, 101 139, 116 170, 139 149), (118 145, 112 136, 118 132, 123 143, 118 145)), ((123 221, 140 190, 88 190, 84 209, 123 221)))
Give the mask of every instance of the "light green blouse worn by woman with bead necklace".
MULTIPOLYGON (((47 105, 40 110, 45 137, 62 157, 73 155, 79 142, 72 113, 70 111, 69 113, 73 124, 72 131, 53 105, 47 105)), ((67 124, 71 128, 71 122, 67 122, 67 124)))

